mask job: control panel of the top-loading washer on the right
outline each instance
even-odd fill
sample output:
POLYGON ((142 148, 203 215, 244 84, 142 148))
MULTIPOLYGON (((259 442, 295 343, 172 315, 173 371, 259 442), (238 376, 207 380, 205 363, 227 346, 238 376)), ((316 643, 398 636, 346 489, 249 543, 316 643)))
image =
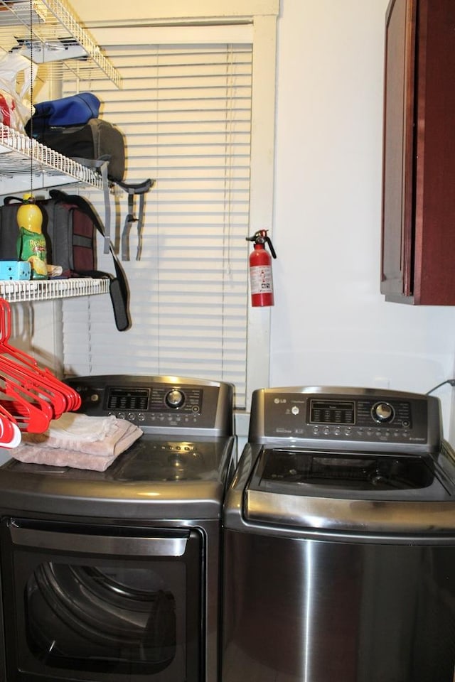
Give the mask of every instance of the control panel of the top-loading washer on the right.
MULTIPOLYGON (((252 399, 250 442, 308 441, 311 447, 439 448, 439 401, 377 389, 260 389, 252 399)), ((299 443, 301 444, 301 443, 299 443)))

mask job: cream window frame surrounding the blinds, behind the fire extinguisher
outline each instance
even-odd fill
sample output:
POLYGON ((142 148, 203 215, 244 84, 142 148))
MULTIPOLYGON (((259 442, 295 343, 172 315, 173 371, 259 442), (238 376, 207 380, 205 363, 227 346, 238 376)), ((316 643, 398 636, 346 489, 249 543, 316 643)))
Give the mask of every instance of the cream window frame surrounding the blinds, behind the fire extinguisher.
MULTIPOLYGON (((80 0, 80 9, 85 0, 80 0)), ((90 0, 91 1, 91 0, 90 0)), ((274 126, 276 90, 277 16, 279 0, 139 0, 134 6, 119 4, 115 20, 100 21, 102 12, 90 10, 95 39, 102 46, 117 24, 150 31, 163 24, 191 25, 198 20, 208 26, 223 23, 252 23, 252 136, 250 178, 250 234, 268 229, 272 236, 274 208, 274 126), (220 7, 220 5, 223 5, 220 7), (98 20, 98 21, 97 21, 98 20), (109 28, 108 28, 109 27, 109 28)), ((139 38, 139 36, 137 36, 139 38)), ((123 38, 124 40, 124 38, 123 38)), ((250 298, 250 291, 248 291, 250 298)), ((269 386, 270 308, 252 308, 247 313, 246 410, 250 411, 252 392, 269 386)), ((242 412, 242 411, 241 411, 242 412)), ((245 426, 244 426, 245 428, 245 426)), ((242 429, 243 430, 243 429, 242 429)))

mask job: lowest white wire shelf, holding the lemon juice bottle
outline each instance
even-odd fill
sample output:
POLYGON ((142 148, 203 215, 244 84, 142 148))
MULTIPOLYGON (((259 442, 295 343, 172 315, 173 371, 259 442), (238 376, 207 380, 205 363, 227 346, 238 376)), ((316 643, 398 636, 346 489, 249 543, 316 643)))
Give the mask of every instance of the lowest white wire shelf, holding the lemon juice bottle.
POLYGON ((108 293, 109 281, 107 278, 92 279, 89 277, 0 281, 0 296, 9 303, 94 296, 95 294, 108 293))

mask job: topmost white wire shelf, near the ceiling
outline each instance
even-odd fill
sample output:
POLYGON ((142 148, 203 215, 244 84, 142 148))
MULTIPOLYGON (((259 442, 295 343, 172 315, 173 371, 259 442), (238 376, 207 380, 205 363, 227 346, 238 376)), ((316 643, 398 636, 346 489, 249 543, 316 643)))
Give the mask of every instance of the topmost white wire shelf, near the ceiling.
POLYGON ((66 0, 0 0, 0 45, 5 52, 21 50, 38 65, 58 62, 77 77, 107 76, 122 87, 119 72, 66 0))

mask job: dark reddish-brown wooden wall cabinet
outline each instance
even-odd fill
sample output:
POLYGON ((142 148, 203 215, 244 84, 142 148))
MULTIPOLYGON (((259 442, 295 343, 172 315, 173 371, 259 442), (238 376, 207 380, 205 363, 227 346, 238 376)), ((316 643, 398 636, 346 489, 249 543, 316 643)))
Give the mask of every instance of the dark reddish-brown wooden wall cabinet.
POLYGON ((381 292, 455 305, 455 0, 391 0, 381 292))

